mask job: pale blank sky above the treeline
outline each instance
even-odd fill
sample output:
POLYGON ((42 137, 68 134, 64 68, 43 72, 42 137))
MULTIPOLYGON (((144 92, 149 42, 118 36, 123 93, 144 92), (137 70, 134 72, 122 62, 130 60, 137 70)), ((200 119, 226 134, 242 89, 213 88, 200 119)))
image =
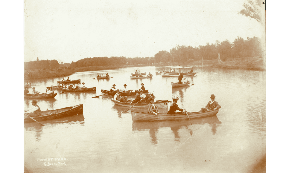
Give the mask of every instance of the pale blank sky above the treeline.
POLYGON ((245 0, 25 0, 24 62, 153 57, 162 50, 264 36, 245 0))

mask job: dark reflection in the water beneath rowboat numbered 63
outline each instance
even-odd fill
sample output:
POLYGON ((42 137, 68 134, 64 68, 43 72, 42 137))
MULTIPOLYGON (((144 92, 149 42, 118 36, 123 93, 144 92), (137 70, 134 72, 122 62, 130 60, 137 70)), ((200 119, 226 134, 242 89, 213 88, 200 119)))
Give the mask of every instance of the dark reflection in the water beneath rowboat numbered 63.
POLYGON ((43 134, 44 128, 51 128, 56 126, 57 124, 84 124, 84 117, 83 114, 73 115, 69 117, 58 118, 54 120, 46 120, 41 121, 40 123, 44 124, 45 126, 39 125, 36 122, 31 123, 24 123, 24 128, 26 131, 35 132, 35 140, 40 141, 41 135, 43 134))

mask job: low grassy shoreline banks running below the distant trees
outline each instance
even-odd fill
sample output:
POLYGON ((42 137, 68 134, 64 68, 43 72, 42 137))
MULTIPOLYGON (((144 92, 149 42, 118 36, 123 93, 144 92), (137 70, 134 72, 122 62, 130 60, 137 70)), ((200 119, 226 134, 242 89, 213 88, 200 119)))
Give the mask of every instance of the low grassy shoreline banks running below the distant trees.
MULTIPOLYGON (((175 66, 178 63, 175 63, 175 66)), ((212 65, 212 67, 216 68, 229 68, 229 69, 244 69, 244 70, 256 70, 256 71, 266 71, 265 62, 263 62, 262 58, 258 57, 250 57, 248 59, 234 59, 226 62, 219 63, 218 60, 204 60, 204 61, 193 61, 188 63, 181 63, 180 65, 212 65)), ((52 78, 52 77, 66 77, 70 76, 76 72, 80 71, 100 71, 100 70, 112 70, 118 68, 128 68, 128 67, 146 67, 146 66, 155 66, 155 67, 164 67, 164 66, 172 66, 171 63, 168 64, 140 64, 140 65, 123 65, 123 66, 92 66, 92 67, 80 67, 80 68, 60 68, 60 69, 34 69, 34 70, 24 70, 24 83, 26 81, 29 82, 30 79, 43 79, 43 78, 52 78), (32 76, 28 76, 28 73, 32 73, 32 76)))

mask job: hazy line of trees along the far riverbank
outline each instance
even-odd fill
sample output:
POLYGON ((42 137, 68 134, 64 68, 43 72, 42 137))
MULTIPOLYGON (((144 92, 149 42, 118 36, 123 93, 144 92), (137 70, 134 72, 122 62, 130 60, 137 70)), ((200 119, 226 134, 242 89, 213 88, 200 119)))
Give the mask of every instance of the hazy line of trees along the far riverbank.
POLYGON ((76 62, 58 63, 57 60, 40 60, 25 62, 24 66, 27 69, 51 69, 51 68, 76 68, 89 66, 119 66, 132 64, 152 64, 152 63, 170 63, 170 62, 192 62, 197 60, 211 60, 217 59, 220 52, 220 59, 226 61, 227 59, 234 59, 240 57, 261 56, 262 50, 260 46, 260 39, 257 37, 243 39, 237 37, 234 42, 225 40, 220 42, 216 40, 215 43, 207 43, 205 46, 192 47, 177 45, 172 48, 170 52, 162 50, 154 55, 154 57, 135 57, 127 58, 124 56, 115 57, 94 57, 80 59, 76 62))

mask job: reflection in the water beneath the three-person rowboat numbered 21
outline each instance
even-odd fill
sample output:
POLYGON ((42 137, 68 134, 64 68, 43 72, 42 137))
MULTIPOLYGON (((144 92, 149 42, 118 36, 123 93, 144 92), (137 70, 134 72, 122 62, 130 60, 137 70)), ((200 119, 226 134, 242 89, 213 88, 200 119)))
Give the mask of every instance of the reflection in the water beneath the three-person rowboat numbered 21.
MULTIPOLYGON (((216 134, 217 127, 222 124, 217 116, 194 119, 191 120, 191 123, 193 125, 193 129, 198 129, 196 128, 196 125, 209 124, 213 135, 216 134)), ((191 136, 193 135, 191 123, 189 120, 166 121, 166 122, 133 122, 133 131, 137 132, 149 130, 151 143, 153 145, 156 145, 158 143, 156 135, 159 132, 159 129, 169 127, 171 128, 171 132, 174 134, 174 141, 180 142, 181 137, 179 134, 179 130, 181 128, 185 128, 190 133, 191 136)))

